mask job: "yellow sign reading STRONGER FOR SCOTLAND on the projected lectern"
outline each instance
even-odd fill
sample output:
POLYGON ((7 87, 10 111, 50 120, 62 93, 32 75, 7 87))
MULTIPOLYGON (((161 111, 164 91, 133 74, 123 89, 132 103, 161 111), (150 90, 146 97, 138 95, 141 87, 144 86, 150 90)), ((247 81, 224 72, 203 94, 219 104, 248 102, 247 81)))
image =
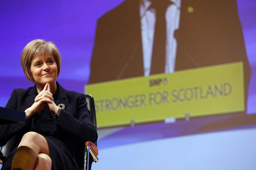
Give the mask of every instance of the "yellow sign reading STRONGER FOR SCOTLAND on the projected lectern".
POLYGON ((97 127, 243 111, 242 62, 85 86, 97 127))

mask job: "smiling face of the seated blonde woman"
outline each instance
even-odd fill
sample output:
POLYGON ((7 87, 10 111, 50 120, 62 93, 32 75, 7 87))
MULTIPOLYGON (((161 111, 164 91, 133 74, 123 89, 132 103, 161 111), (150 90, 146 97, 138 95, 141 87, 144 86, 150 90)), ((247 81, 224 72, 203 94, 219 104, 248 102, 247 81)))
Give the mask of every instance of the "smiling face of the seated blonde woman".
POLYGON ((57 65, 53 55, 34 56, 31 61, 30 70, 35 84, 44 86, 46 83, 54 83, 57 78, 57 65))

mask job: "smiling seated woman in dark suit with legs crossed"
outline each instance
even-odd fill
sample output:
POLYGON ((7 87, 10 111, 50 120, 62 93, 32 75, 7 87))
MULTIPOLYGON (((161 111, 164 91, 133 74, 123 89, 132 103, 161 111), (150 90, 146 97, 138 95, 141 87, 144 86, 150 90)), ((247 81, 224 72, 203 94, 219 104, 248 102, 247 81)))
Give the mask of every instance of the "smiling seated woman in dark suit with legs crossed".
POLYGON ((0 146, 16 135, 2 169, 78 169, 72 149, 75 140, 97 140, 85 95, 67 91, 56 82, 61 55, 51 42, 28 43, 21 65, 35 86, 15 89, 6 105, 25 112, 26 123, 0 127, 0 146))

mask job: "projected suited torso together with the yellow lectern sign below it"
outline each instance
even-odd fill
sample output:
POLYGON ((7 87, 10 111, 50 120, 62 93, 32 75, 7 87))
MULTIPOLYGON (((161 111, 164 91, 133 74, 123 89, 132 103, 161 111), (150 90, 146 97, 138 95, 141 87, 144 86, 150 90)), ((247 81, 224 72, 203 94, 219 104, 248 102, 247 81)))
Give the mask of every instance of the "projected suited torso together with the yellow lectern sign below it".
POLYGON ((90 68, 85 91, 104 126, 247 111, 251 71, 235 0, 126 0, 98 19, 90 68))

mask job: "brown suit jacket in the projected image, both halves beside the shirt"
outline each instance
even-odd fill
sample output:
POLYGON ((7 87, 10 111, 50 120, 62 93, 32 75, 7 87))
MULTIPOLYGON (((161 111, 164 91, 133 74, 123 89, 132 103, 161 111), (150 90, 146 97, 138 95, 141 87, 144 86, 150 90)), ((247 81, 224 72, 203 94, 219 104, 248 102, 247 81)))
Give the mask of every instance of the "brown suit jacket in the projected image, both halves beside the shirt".
MULTIPOLYGON (((174 36, 175 71, 242 61, 247 99, 250 66, 235 0, 182 0, 174 36)), ((89 84, 144 76, 138 0, 98 19, 90 69, 89 84)))

